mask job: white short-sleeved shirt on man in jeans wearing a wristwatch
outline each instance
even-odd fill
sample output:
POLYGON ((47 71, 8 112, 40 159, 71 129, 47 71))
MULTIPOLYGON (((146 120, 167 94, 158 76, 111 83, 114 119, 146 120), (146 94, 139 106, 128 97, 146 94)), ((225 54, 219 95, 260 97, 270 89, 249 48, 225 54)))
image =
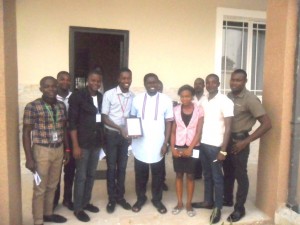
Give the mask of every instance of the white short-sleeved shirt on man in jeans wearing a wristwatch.
POLYGON ((233 102, 221 93, 202 103, 204 124, 201 143, 220 147, 225 132, 224 118, 233 116, 233 102))

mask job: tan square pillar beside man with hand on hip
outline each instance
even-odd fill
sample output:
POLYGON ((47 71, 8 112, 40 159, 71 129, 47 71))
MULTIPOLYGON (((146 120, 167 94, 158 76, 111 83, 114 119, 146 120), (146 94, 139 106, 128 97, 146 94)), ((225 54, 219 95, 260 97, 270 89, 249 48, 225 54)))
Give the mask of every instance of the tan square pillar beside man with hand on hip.
POLYGON ((270 216, 287 200, 297 1, 269 0, 263 101, 273 128, 260 142, 257 205, 270 216))

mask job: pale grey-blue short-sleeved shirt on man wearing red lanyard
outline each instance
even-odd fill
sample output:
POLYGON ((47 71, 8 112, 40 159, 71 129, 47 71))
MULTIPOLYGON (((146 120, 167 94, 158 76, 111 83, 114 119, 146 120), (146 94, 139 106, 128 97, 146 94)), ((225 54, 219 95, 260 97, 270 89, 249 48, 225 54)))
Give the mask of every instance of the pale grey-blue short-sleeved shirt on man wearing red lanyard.
MULTIPOLYGON (((125 126, 125 118, 129 117, 134 94, 132 92, 123 93, 119 86, 104 93, 102 102, 102 114, 105 114, 118 126, 125 126)), ((110 126, 106 128, 116 130, 110 126)))

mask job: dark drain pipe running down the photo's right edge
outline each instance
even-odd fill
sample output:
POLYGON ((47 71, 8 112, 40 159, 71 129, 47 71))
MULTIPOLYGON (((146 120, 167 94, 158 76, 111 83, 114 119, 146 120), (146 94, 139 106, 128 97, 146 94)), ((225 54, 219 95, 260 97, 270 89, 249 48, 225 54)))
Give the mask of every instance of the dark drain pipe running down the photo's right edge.
POLYGON ((298 0, 297 15, 297 49, 295 60, 295 78, 294 78, 294 103, 292 118, 292 140, 291 140, 291 159, 289 174, 289 189, 287 207, 297 213, 299 210, 299 199, 297 199, 298 176, 299 174, 299 152, 300 152, 300 0, 298 0))

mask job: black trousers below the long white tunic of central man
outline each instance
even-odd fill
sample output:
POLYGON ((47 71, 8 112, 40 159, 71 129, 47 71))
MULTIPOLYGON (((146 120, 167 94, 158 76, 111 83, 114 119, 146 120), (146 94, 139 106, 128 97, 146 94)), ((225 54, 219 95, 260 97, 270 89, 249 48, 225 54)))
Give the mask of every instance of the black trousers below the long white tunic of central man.
POLYGON ((146 187, 149 179, 149 168, 152 174, 152 202, 160 202, 162 200, 162 185, 164 159, 156 163, 144 163, 134 158, 135 171, 135 192, 138 200, 146 199, 146 187))

